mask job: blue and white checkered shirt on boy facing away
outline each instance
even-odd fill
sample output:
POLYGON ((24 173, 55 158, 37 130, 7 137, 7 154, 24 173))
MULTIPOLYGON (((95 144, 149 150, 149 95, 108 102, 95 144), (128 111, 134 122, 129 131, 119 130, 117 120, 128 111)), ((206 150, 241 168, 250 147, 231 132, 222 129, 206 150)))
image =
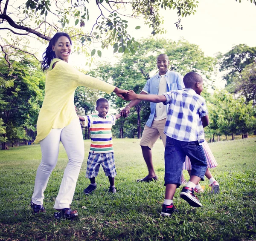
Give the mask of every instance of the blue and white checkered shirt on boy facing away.
POLYGON ((185 88, 163 94, 165 105, 170 104, 164 133, 178 141, 204 141, 201 117, 208 115, 203 97, 195 90, 185 88))

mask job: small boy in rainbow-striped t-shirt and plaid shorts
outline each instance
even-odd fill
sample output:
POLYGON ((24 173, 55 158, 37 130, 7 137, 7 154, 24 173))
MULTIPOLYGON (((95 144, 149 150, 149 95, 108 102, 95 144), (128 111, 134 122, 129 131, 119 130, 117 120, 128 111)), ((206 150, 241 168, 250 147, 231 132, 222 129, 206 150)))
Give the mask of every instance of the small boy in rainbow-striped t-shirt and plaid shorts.
POLYGON ((108 100, 100 98, 96 101, 98 115, 78 115, 79 119, 82 121, 82 125, 90 128, 91 135, 91 145, 86 169, 86 178, 90 179, 90 185, 84 189, 84 194, 90 194, 96 189, 95 178, 99 173, 100 164, 110 182, 108 192, 116 193, 116 167, 111 128, 116 123, 116 119, 120 118, 121 115, 107 115, 108 109, 108 100))

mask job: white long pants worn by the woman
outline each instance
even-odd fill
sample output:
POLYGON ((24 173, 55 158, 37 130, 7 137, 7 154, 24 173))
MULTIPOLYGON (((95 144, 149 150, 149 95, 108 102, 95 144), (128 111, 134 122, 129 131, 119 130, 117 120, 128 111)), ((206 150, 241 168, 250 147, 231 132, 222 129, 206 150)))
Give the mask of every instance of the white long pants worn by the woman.
POLYGON ((76 189, 82 162, 84 161, 84 140, 78 119, 61 129, 52 129, 49 135, 40 141, 42 160, 35 177, 35 189, 32 202, 42 205, 52 170, 57 164, 60 141, 68 156, 61 186, 53 208, 69 208, 76 189))

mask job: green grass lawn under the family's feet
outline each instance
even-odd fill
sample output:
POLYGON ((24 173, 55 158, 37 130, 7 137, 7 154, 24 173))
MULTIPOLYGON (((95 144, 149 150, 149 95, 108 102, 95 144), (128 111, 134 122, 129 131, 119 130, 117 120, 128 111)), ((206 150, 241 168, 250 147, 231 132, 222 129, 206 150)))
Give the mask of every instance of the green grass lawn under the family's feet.
MULTIPOLYGON (((97 189, 85 196, 85 178, 90 140, 84 141, 85 158, 72 207, 79 211, 75 221, 56 221, 54 201, 58 193, 67 155, 62 145, 58 164, 45 191, 46 213, 34 215, 30 199, 40 146, 20 146, 0 151, 0 240, 256 240, 256 138, 210 143, 218 162, 211 169, 220 183, 220 193, 198 195, 203 204, 192 208, 175 193, 179 213, 162 217, 164 199, 164 148, 154 146, 154 168, 159 181, 136 183, 147 174, 139 140, 114 139, 116 194, 108 193, 108 178, 100 169, 97 189)), ((184 172, 185 178, 189 176, 184 172)))

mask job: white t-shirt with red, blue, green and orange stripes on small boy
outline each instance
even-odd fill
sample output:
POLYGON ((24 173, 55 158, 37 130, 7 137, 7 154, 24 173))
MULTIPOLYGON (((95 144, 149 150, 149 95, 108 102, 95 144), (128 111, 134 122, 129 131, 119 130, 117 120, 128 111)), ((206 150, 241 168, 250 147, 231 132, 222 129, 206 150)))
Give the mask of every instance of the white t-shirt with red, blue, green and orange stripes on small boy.
POLYGON ((115 115, 107 115, 105 119, 100 118, 96 114, 84 115, 85 121, 83 126, 90 128, 92 153, 108 153, 113 152, 112 132, 111 128, 116 124, 115 115))

